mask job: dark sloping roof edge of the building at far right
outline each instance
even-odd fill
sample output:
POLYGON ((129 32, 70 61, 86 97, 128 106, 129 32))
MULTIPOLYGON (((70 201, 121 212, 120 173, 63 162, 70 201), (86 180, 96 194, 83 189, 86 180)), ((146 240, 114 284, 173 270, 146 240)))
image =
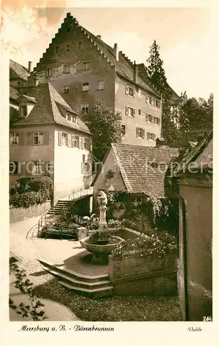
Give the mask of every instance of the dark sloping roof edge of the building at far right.
MULTIPOLYGON (((212 138, 213 130, 211 129, 211 131, 208 131, 195 147, 192 149, 185 148, 175 160, 176 168, 173 173, 175 173, 175 175, 180 175, 182 172, 186 172, 189 163, 196 161, 196 158, 198 158, 198 156, 204 151, 204 148, 207 147, 207 144, 212 140, 212 138)), ((211 163, 211 158, 209 158, 209 162, 206 164, 209 163, 211 163)))

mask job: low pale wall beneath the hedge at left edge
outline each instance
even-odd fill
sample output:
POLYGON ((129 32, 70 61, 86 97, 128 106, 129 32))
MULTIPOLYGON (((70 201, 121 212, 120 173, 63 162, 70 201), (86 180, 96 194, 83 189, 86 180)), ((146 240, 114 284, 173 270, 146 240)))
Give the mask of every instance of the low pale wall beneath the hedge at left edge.
POLYGON ((50 201, 41 204, 39 206, 33 206, 30 208, 13 208, 10 207, 10 224, 14 222, 23 221, 29 219, 30 217, 37 217, 44 215, 51 207, 50 201))

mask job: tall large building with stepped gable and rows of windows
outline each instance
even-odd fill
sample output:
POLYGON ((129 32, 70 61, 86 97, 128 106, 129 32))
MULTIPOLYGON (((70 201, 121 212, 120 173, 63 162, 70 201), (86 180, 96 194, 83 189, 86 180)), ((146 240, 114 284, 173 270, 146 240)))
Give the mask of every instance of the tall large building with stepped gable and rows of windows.
POLYGON ((96 100, 119 111, 123 143, 155 146, 160 137, 160 95, 141 78, 138 66, 117 44, 111 48, 70 13, 33 73, 39 83, 49 81, 80 114, 96 100))

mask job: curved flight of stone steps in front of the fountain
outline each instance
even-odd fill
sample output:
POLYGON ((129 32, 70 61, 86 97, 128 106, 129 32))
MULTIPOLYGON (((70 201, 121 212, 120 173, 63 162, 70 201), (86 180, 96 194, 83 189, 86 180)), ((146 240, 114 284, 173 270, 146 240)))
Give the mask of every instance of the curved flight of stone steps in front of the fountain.
POLYGON ((113 295, 113 286, 108 275, 84 275, 66 268, 54 266, 46 260, 38 260, 44 270, 59 279, 59 284, 75 292, 84 293, 90 298, 113 295))

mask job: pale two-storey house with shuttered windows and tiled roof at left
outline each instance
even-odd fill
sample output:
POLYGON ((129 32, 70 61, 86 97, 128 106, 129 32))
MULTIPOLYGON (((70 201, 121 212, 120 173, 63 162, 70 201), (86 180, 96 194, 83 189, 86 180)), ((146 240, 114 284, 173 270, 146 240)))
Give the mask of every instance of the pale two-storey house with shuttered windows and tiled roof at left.
POLYGON ((19 119, 10 126, 10 186, 24 176, 49 174, 53 203, 88 188, 92 135, 79 114, 48 82, 36 86, 35 97, 20 94, 16 102, 19 119))

